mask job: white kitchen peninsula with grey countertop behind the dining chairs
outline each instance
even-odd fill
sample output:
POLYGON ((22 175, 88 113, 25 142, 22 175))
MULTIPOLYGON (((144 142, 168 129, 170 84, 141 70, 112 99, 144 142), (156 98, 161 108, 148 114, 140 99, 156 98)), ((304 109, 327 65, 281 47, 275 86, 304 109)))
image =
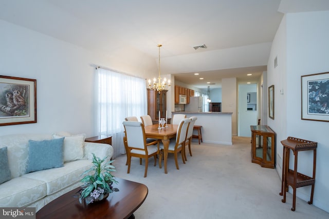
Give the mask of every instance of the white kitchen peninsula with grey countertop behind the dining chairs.
POLYGON ((196 116, 196 126, 202 126, 203 142, 232 145, 232 112, 171 112, 196 116))

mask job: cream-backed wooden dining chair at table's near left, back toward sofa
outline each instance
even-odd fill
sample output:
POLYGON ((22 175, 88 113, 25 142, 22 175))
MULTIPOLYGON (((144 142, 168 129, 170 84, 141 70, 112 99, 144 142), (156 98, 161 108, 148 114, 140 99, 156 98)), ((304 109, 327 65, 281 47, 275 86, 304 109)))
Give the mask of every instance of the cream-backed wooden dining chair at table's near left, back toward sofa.
POLYGON ((124 133, 125 144, 127 146, 128 157, 128 169, 127 173, 130 173, 131 159, 132 157, 139 157, 139 164, 141 165, 141 159, 145 159, 145 172, 144 177, 148 173, 149 158, 154 157, 154 166, 156 166, 157 155, 159 154, 159 140, 151 143, 146 143, 145 129, 141 122, 124 121, 124 133))

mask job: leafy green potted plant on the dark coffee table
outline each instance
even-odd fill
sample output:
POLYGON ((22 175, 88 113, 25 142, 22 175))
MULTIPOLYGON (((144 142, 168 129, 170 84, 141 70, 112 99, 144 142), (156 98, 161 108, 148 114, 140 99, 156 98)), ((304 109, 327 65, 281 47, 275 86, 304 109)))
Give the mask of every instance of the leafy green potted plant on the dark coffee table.
POLYGON ((89 170, 86 170, 82 175, 94 172, 93 175, 86 175, 82 178, 81 182, 84 184, 81 186, 79 201, 82 203, 84 200, 86 204, 104 200, 108 197, 109 193, 119 191, 117 188, 113 188, 113 183, 118 184, 115 180, 115 176, 111 174, 112 171, 116 171, 112 165, 114 161, 104 163, 106 157, 101 159, 93 153, 94 166, 89 170))

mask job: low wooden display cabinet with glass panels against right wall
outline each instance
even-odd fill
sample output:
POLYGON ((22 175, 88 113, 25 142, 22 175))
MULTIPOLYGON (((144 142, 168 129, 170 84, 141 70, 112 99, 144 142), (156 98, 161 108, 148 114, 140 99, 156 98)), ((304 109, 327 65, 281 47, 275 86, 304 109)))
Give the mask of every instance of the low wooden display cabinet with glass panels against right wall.
POLYGON ((251 162, 275 168, 275 132, 268 126, 250 126, 251 162))

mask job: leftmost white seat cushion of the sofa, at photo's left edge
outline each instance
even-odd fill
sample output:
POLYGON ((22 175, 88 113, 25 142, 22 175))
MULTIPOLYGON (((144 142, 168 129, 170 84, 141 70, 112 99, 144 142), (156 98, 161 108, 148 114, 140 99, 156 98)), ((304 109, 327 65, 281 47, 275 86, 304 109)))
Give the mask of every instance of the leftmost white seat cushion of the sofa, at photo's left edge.
POLYGON ((0 186, 1 207, 25 207, 47 194, 46 183, 29 178, 12 178, 0 186))

